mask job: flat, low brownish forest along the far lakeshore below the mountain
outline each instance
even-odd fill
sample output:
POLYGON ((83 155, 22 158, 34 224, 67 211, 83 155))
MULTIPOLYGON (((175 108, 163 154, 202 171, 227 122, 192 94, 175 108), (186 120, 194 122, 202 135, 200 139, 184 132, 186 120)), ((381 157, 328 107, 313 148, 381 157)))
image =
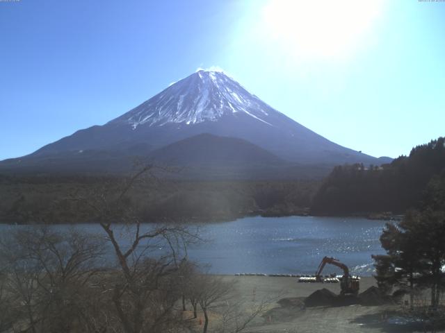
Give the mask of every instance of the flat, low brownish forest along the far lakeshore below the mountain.
MULTIPOLYGON (((0 176, 0 223, 97 221, 92 205, 113 198, 130 178, 0 176)), ((318 180, 181 181, 149 173, 125 194, 140 221, 227 221, 307 214, 318 180)))

